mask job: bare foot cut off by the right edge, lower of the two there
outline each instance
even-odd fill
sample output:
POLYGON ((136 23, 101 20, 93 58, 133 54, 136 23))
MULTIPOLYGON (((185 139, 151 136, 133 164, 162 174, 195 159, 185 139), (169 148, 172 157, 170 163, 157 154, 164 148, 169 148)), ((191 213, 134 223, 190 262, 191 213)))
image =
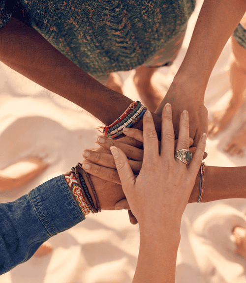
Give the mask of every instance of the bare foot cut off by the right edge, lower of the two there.
POLYGON ((224 151, 230 155, 244 156, 244 147, 246 146, 246 121, 232 135, 230 142, 227 143, 224 151))

